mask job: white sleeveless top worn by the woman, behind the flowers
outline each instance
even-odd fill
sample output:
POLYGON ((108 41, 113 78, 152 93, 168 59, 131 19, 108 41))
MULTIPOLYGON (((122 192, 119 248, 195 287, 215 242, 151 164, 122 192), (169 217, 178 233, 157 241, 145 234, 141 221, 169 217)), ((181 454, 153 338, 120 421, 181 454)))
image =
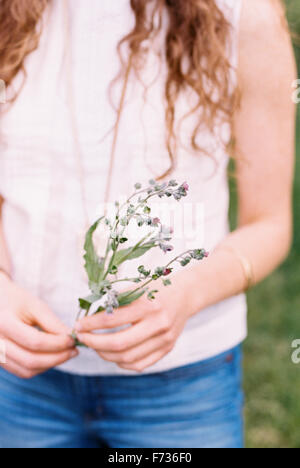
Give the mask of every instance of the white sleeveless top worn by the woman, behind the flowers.
MULTIPOLYGON (((237 65, 238 24, 242 0, 219 0, 232 23, 228 47, 237 65)), ((78 168, 67 105, 65 12, 52 0, 45 14, 40 47, 26 61, 27 80, 13 106, 1 119, 0 193, 6 203, 3 224, 15 280, 43 299, 68 326, 74 325, 79 296, 88 294, 79 250, 85 228, 78 168)), ((134 24, 129 0, 69 0, 72 74, 76 118, 84 155, 84 182, 90 223, 102 214, 116 113, 108 97, 119 72, 116 46, 134 24)), ((142 74, 144 88, 130 78, 119 132, 110 200, 131 194, 136 182, 160 175, 169 165, 165 148, 165 69, 153 46, 142 74), (154 78, 157 77, 155 81, 154 78)), ((14 86, 21 82, 15 79, 14 86)), ((235 84, 235 73, 232 73, 235 84)), ((117 104, 121 83, 113 92, 117 104)), ((177 104, 177 122, 194 105, 186 93, 177 104)), ((212 251, 228 233, 228 155, 216 135, 202 131, 199 142, 212 155, 190 147, 195 117, 178 130, 178 165, 172 178, 187 181, 190 194, 181 203, 157 204, 155 214, 175 227, 175 253, 205 247, 212 251), (217 164, 216 164, 217 163, 217 164)), ((224 140, 227 126, 216 128, 224 140)), ((172 253, 173 254, 173 253, 172 253)), ((151 252, 142 263, 164 265, 166 257, 151 252)), ((136 271, 141 263, 127 265, 136 271)), ((199 285, 201 293, 201 284, 199 285)), ((244 295, 199 311, 187 323, 174 350, 146 372, 160 372, 204 360, 239 344, 246 337, 244 295)), ((128 374, 101 360, 93 351, 61 369, 85 375, 128 374)))

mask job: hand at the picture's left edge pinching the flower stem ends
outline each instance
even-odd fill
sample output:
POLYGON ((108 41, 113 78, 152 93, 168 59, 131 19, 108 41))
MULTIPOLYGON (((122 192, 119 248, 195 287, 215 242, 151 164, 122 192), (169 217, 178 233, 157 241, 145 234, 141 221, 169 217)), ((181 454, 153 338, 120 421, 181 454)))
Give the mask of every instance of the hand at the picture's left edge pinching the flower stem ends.
POLYGON ((4 341, 6 355, 2 367, 24 379, 78 355, 70 330, 42 301, 3 273, 0 273, 0 340, 4 341))

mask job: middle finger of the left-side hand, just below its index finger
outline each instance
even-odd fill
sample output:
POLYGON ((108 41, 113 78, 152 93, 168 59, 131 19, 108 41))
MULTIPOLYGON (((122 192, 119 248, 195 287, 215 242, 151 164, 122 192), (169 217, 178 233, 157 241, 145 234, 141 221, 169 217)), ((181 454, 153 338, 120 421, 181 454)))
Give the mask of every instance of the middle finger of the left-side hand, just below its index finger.
POLYGON ((52 369, 78 356, 78 351, 68 350, 53 354, 39 354, 27 351, 12 341, 6 343, 7 358, 29 371, 52 369))

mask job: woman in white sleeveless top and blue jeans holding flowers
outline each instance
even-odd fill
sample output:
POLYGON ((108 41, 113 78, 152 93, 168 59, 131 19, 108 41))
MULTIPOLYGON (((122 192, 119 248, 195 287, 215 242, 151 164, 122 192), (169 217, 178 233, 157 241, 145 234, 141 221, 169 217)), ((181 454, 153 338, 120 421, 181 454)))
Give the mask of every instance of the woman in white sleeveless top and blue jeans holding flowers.
POLYGON ((10 0, 0 14, 14 99, 1 120, 0 447, 242 447, 243 292, 291 243, 295 65, 279 2, 10 0), (210 256, 156 301, 77 323, 91 348, 79 353, 80 233, 153 175, 188 181, 183 211, 167 206, 175 233, 188 219, 176 249, 210 256))

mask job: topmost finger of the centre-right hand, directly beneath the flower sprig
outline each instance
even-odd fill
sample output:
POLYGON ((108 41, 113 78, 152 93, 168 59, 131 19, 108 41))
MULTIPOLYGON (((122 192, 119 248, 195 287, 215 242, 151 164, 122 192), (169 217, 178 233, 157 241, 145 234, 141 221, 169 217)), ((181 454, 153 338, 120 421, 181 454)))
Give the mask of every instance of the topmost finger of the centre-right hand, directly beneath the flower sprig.
POLYGON ((79 333, 86 333, 93 330, 105 330, 122 327, 141 320, 145 316, 143 307, 124 307, 117 309, 113 314, 96 314, 86 317, 75 325, 75 330, 79 333))

